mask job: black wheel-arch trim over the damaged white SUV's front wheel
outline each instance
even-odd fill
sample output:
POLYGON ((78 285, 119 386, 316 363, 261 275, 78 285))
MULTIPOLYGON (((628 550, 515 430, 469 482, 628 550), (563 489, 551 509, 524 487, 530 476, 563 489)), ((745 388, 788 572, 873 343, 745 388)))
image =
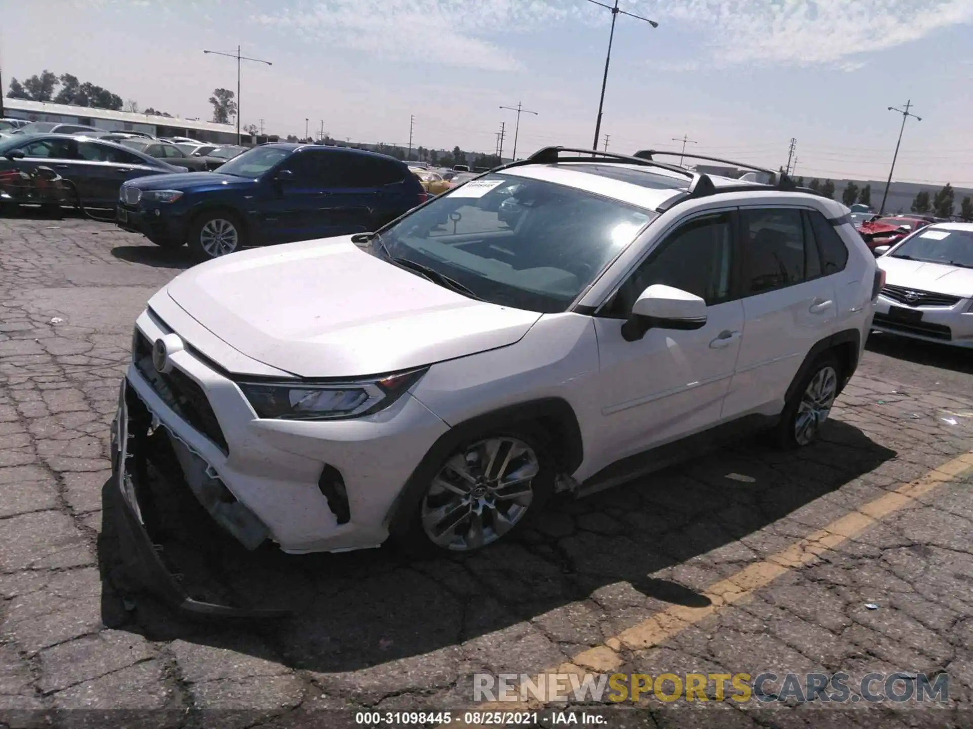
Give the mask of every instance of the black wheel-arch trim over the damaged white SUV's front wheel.
POLYGON ((497 427, 523 423, 539 423, 554 436, 559 472, 573 473, 581 466, 584 458, 581 427, 567 400, 533 399, 490 410, 457 423, 432 444, 385 516, 389 534, 401 535, 409 529, 410 519, 425 495, 426 487, 457 446, 497 427))

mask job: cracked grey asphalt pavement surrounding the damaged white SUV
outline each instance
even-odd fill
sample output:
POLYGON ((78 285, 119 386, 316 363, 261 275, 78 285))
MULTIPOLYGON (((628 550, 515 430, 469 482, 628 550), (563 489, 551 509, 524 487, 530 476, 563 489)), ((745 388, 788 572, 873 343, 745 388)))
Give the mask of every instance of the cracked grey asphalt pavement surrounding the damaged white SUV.
POLYGON ((949 677, 933 709, 726 698, 574 707, 610 727, 973 726, 973 468, 960 468, 973 449, 973 353, 873 337, 818 445, 783 454, 747 440, 554 503, 521 540, 477 556, 247 553, 191 515, 175 528, 202 564, 187 589, 294 615, 190 622, 128 594, 108 498, 134 319, 189 264, 111 225, 0 219, 0 725, 455 716, 473 705, 476 674, 571 664, 949 677), (948 463, 946 477, 936 469, 948 463), (939 477, 925 491, 886 498, 930 471, 939 477), (707 597, 883 498, 893 508, 813 559, 764 571, 733 602, 707 597), (619 639, 698 608, 701 619, 670 621, 654 638, 619 639))

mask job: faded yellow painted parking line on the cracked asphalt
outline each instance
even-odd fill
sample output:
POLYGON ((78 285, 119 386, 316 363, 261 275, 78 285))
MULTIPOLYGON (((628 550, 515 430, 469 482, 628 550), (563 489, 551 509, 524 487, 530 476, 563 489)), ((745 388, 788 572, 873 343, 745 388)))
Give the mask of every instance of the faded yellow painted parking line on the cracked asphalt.
MULTIPOLYGON (((747 565, 738 573, 710 585, 703 591, 703 595, 709 599, 709 605, 703 608, 691 608, 683 605, 666 608, 622 631, 619 635, 609 638, 601 645, 578 653, 570 662, 543 671, 538 676, 548 674, 582 676, 590 672, 612 673, 617 671, 624 663, 620 655, 621 651, 626 649, 645 650, 666 642, 718 610, 739 603, 740 600, 752 595, 754 591, 767 587, 781 574, 807 565, 829 549, 834 549, 847 539, 857 537, 888 514, 913 503, 920 496, 928 494, 943 483, 955 480, 969 470, 973 470, 973 451, 964 453, 958 458, 930 470, 915 481, 902 484, 894 491, 889 491, 878 499, 859 506, 823 529, 811 533, 806 538, 799 539, 767 559, 747 565)), ((533 680, 536 682, 537 677, 533 677, 533 680)), ((528 699, 526 701, 481 704, 476 707, 476 711, 537 711, 542 709, 543 706, 540 701, 528 699)), ((461 723, 460 726, 471 727, 475 725, 461 723)))

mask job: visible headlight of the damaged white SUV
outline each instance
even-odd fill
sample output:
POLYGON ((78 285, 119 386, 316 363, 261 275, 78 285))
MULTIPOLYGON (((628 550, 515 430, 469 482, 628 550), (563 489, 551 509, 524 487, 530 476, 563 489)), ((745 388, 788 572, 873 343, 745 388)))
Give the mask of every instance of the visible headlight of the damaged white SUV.
POLYGON ((426 368, 345 382, 238 382, 260 418, 336 420, 384 410, 401 398, 426 368))

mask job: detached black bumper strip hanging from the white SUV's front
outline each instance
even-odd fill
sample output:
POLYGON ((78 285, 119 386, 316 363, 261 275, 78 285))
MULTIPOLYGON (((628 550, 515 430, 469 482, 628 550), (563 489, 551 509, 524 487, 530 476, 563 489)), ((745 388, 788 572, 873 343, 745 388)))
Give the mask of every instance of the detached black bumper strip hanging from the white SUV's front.
POLYGON ((122 381, 119 407, 112 424, 112 478, 118 489, 116 521, 126 573, 143 589, 182 612, 211 617, 271 618, 281 609, 236 608, 190 597, 162 561, 162 548, 150 536, 155 514, 147 479, 147 438, 152 417, 135 392, 122 381))

